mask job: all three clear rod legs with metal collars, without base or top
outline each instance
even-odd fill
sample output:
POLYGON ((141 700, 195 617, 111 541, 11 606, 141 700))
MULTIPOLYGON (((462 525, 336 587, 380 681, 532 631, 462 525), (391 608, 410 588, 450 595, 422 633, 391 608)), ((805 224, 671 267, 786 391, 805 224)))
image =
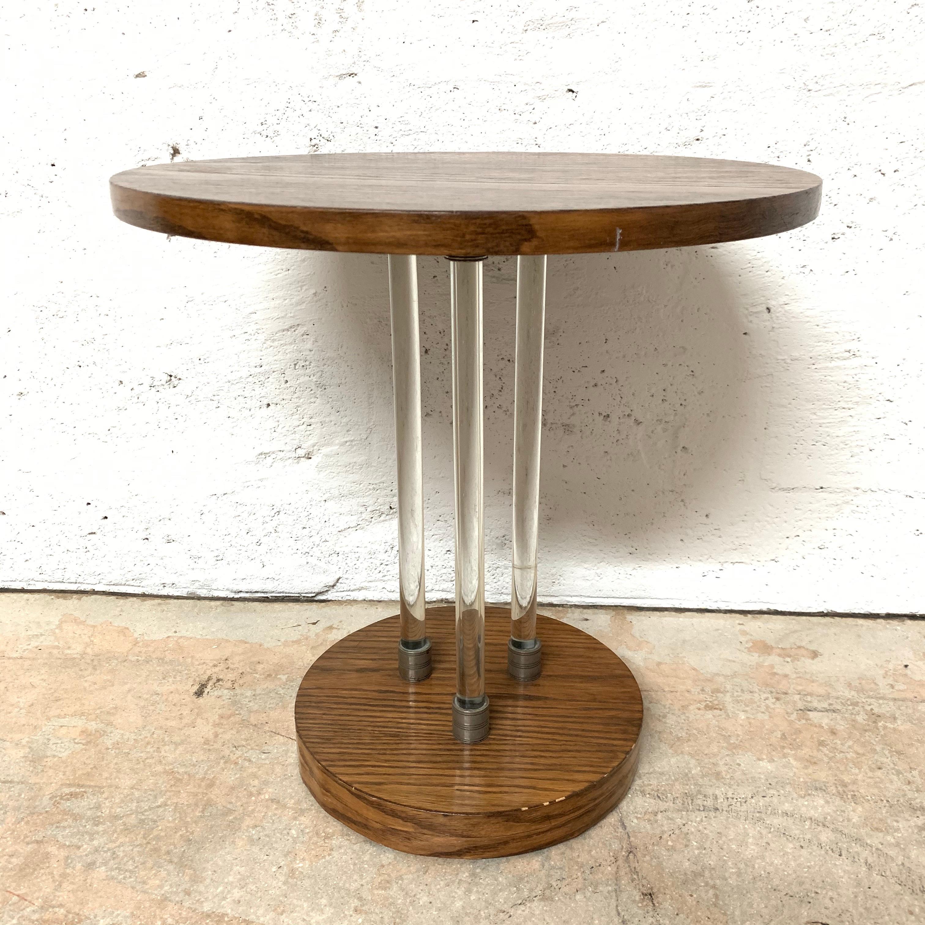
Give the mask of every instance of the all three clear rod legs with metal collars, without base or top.
MULTIPOLYGON (((482 394, 482 264, 450 257, 453 392, 453 481, 456 551, 456 695, 453 734, 474 743, 488 734, 485 690, 484 435, 482 394)), ((421 367, 415 258, 388 258, 398 461, 399 672, 406 681, 430 674, 425 635, 424 497, 421 462, 421 367)), ((539 676, 536 636, 536 538, 543 401, 546 257, 517 258, 514 372, 511 638, 508 671, 539 676)))

